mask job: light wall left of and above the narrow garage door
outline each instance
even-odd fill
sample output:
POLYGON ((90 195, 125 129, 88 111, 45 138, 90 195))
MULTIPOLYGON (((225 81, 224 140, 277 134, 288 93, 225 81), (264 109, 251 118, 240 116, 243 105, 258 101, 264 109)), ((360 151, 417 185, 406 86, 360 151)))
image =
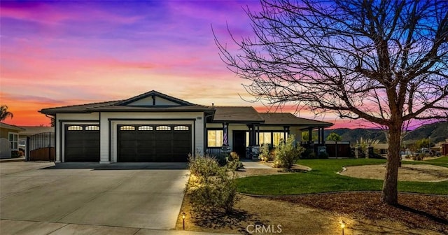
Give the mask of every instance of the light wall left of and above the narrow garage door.
POLYGON ((64 162, 64 129, 67 124, 99 124, 99 113, 58 113, 56 115, 56 162, 64 162))

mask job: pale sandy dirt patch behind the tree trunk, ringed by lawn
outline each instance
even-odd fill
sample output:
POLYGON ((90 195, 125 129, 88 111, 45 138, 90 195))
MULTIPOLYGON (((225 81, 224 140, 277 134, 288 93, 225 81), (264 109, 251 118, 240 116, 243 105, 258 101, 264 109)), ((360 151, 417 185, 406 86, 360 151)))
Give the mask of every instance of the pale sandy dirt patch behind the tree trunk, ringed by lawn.
MULTIPOLYGON (((386 165, 347 166, 341 175, 355 178, 381 180, 386 172, 386 165)), ((448 168, 423 164, 402 164, 398 169, 399 181, 437 182, 448 180, 448 168)))

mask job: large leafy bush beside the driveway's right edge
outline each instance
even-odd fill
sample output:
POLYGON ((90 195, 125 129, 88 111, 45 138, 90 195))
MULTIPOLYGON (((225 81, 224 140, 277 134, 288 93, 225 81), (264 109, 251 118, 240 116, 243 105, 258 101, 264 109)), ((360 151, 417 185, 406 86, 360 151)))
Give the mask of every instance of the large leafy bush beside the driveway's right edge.
MULTIPOLYGON (((230 162, 239 162, 238 160, 230 162)), ((190 157, 190 172, 197 178, 189 180, 193 208, 200 211, 232 211, 237 201, 237 185, 235 173, 228 173, 220 167, 214 157, 190 157), (193 169, 193 170, 192 170, 193 169)))

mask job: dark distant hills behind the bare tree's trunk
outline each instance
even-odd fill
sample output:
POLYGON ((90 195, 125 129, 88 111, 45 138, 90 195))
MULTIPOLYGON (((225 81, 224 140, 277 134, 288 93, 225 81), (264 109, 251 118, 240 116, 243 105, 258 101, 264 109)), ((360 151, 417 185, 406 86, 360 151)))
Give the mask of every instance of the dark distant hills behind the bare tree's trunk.
MULTIPOLYGON (((356 143, 356 140, 359 140, 361 137, 377 139, 379 142, 386 142, 386 134, 384 131, 380 129, 348 129, 348 128, 339 128, 339 129, 330 129, 325 130, 325 138, 331 132, 335 132, 342 137, 342 141, 350 141, 350 143, 356 143)), ((409 131, 404 140, 405 141, 416 141, 421 138, 431 138, 431 142, 437 143, 440 141, 444 141, 448 138, 448 122, 435 122, 431 124, 424 124, 421 127, 414 129, 413 131, 409 131)))

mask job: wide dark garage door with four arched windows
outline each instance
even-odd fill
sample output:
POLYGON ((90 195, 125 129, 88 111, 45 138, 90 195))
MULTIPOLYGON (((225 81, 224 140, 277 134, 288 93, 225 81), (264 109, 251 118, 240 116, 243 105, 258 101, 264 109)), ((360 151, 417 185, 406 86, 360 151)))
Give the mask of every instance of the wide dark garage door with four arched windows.
POLYGON ((118 125, 118 162, 187 162, 191 125, 118 125))

